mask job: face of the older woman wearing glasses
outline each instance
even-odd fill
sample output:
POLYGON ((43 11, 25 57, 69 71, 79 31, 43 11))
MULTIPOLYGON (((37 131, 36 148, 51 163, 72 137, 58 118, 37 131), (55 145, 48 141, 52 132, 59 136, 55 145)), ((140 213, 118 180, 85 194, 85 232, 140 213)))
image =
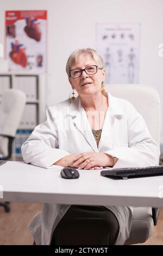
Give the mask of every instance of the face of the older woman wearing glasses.
MULTIPOLYGON (((72 69, 85 69, 90 65, 98 65, 93 58, 87 54, 80 56, 72 69)), ((101 92, 102 82, 105 78, 105 70, 98 69, 95 75, 87 75, 85 71, 78 78, 69 77, 72 89, 76 89, 79 96, 101 92)))

